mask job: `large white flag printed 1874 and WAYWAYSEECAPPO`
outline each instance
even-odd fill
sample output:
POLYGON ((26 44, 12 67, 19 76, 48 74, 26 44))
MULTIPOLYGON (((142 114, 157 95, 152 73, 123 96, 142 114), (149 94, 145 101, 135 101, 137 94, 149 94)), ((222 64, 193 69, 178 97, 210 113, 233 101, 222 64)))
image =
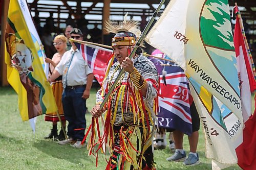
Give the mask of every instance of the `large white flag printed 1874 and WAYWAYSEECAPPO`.
POLYGON ((185 70, 212 168, 236 164, 243 117, 228 1, 172 0, 145 40, 185 70))

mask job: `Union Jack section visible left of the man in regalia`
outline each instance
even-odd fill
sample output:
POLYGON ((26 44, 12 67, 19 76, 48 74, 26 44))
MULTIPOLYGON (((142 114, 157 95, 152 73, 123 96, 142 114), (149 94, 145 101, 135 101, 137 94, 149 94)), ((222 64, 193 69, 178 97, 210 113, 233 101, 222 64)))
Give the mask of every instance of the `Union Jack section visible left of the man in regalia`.
POLYGON ((87 61, 88 66, 93 71, 94 77, 101 85, 113 51, 91 44, 80 44, 77 42, 75 44, 83 59, 87 61))

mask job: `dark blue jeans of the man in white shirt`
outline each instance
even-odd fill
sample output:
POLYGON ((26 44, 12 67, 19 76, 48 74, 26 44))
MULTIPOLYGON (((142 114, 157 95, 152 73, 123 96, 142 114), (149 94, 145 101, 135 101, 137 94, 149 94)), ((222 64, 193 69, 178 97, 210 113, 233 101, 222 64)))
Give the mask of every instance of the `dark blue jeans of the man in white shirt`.
POLYGON ((82 140, 86 128, 86 100, 82 97, 86 87, 65 88, 62 93, 62 105, 68 120, 68 136, 73 140, 82 140), (79 130, 75 130, 79 129, 79 130))

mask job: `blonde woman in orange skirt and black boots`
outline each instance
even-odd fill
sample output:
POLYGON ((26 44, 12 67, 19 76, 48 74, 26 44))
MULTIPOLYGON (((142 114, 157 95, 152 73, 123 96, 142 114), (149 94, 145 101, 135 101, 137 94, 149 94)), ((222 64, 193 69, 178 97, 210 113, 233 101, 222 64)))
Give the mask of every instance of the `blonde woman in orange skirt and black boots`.
MULTIPOLYGON (((67 48, 67 41, 68 39, 64 35, 57 35, 53 40, 53 45, 57 50, 57 53, 55 53, 52 57, 52 59, 46 58, 46 62, 50 63, 50 75, 52 74, 55 66, 60 62, 63 54, 66 52, 67 48)), ((62 101, 61 101, 61 95, 62 95, 62 76, 58 77, 54 82, 52 82, 52 90, 53 95, 58 107, 58 112, 60 115, 61 122, 63 124, 64 129, 66 128, 66 119, 64 117, 63 108, 62 108, 62 101)), ((45 139, 58 139, 58 140, 64 140, 66 132, 63 132, 62 129, 59 132, 57 130, 57 122, 59 122, 59 118, 56 112, 54 113, 47 113, 45 116, 45 120, 52 122, 52 129, 51 133, 45 137, 45 139)))

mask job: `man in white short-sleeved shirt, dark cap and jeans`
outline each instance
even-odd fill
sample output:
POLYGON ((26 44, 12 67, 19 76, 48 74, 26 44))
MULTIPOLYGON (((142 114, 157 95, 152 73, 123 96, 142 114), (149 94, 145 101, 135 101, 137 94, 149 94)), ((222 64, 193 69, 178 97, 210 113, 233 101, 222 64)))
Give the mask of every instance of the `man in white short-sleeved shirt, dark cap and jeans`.
MULTIPOLYGON (((70 34, 71 38, 82 40, 82 32, 79 29, 73 29, 70 34)), ((62 75, 64 89, 62 105, 65 118, 69 122, 67 133, 69 139, 59 141, 58 143, 70 143, 74 148, 82 148, 84 145, 81 144, 81 141, 86 128, 86 99, 90 95, 93 74, 74 42, 71 42, 71 44, 72 48, 63 54, 59 64, 55 67, 52 76, 48 80, 52 82, 62 75)))

